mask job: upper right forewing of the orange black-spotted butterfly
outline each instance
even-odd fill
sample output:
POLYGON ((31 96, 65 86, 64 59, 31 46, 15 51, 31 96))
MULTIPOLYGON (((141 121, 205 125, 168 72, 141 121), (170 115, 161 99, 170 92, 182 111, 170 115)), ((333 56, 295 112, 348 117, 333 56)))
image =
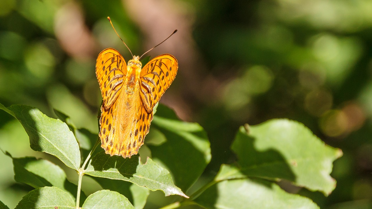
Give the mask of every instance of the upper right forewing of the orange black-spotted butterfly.
POLYGON ((153 112, 155 104, 176 77, 177 70, 178 61, 170 54, 159 55, 142 68, 140 94, 147 112, 153 112))

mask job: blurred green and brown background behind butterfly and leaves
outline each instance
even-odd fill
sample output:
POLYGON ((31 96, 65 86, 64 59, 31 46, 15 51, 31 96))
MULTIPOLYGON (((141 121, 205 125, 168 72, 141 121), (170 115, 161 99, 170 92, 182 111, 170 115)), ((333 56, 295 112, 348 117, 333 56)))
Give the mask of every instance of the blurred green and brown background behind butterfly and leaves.
MULTIPOLYGON (((372 208, 371 0, 1 0, 0 103, 54 118, 55 108, 97 132, 96 57, 113 47, 131 58, 107 16, 135 55, 178 29, 149 55, 179 60, 161 103, 208 132, 205 176, 235 159, 230 145, 240 125, 289 118, 344 153, 329 197, 298 192, 321 208, 372 208)), ((5 112, 0 148, 44 157, 5 112)), ((0 200, 14 208, 32 188, 13 180, 11 159, 0 155, 0 200)), ((83 181, 87 194, 99 189, 83 181)), ((150 194, 146 208, 161 205, 161 194, 150 194)))

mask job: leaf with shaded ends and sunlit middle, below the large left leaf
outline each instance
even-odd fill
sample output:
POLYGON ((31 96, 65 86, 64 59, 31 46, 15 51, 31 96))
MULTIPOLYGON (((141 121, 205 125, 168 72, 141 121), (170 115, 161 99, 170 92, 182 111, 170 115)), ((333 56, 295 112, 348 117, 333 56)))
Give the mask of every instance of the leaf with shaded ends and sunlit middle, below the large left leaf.
MULTIPOLYGON (((64 170, 58 165, 34 157, 13 158, 13 165, 14 179, 17 182, 28 184, 35 189, 55 186, 76 198, 77 185, 67 180, 64 170)), ((81 192, 80 202, 84 202, 86 198, 84 192, 81 192)))

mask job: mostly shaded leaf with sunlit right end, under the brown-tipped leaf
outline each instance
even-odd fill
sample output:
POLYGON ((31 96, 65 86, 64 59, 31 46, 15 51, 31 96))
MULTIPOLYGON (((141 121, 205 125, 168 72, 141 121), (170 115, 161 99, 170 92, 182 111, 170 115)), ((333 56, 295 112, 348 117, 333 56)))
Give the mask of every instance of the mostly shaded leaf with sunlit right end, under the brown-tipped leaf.
POLYGON ((146 204, 148 195, 150 194, 150 190, 146 187, 140 187, 137 186, 137 184, 128 181, 99 177, 93 177, 93 179, 96 180, 103 189, 119 192, 127 197, 135 209, 142 209, 146 204))

